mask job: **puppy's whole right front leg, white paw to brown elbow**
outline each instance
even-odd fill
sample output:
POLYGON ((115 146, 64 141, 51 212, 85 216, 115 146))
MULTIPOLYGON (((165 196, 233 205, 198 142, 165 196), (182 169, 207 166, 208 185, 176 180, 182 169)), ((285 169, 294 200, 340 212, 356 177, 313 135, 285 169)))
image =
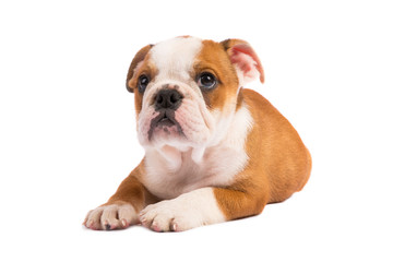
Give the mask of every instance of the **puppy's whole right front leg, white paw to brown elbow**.
POLYGON ((262 212, 265 204, 265 198, 249 192, 202 188, 146 206, 140 213, 140 221, 155 231, 182 231, 255 215, 262 212))

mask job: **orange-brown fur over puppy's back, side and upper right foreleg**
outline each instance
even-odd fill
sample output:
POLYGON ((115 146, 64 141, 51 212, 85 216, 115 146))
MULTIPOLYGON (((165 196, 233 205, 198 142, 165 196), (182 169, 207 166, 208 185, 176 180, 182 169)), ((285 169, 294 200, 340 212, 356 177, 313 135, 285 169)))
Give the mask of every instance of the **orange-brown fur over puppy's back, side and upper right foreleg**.
POLYGON ((226 189, 215 189, 227 219, 262 212, 301 190, 311 171, 311 157, 291 124, 263 96, 240 91, 254 126, 246 141, 249 162, 226 189))

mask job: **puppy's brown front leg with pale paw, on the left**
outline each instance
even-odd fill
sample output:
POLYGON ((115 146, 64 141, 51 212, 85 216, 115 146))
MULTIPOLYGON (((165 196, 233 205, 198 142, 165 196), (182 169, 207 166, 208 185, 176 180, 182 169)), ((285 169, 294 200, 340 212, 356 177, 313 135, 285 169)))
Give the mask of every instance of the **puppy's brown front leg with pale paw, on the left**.
POLYGON ((90 211, 83 225, 95 230, 111 230, 138 224, 139 212, 156 201, 138 179, 141 169, 141 165, 136 167, 107 203, 90 211))

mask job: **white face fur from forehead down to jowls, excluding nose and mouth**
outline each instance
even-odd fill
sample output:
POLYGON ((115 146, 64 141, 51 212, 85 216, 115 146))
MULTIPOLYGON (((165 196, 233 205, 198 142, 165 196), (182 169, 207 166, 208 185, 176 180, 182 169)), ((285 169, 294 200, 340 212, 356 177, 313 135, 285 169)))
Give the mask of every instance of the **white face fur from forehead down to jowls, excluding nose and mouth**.
MULTIPOLYGON (((174 38, 157 44, 151 49, 151 60, 158 74, 147 86, 142 102, 142 110, 138 120, 138 138, 146 152, 155 150, 170 166, 170 170, 180 168, 180 152, 193 150, 192 158, 200 163, 204 155, 206 144, 214 132, 214 119, 203 100, 203 95, 194 79, 191 78, 195 57, 202 49, 202 40, 194 37, 174 38), (151 120, 157 116, 154 109, 154 97, 165 85, 177 85, 184 96, 180 108, 177 109, 176 119, 181 123, 184 138, 175 133, 153 135, 148 140, 151 120)), ((156 133, 155 133, 156 134, 156 133)))

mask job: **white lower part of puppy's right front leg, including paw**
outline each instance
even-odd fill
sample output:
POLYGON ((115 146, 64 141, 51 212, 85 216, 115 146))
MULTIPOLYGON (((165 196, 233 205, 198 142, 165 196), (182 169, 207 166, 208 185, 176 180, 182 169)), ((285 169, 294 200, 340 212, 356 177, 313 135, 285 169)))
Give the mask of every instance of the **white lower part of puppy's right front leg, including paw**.
POLYGON ((180 196, 146 206, 140 219, 156 231, 182 231, 202 225, 225 222, 213 189, 202 188, 180 196))

